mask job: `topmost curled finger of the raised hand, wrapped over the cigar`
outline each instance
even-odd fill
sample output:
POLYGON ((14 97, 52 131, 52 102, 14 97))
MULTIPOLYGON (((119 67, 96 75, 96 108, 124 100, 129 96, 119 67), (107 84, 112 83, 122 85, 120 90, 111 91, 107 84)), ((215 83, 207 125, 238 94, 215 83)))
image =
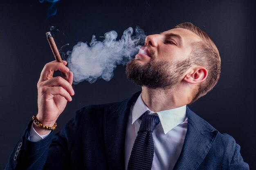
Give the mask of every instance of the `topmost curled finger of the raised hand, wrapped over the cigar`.
POLYGON ((63 61, 63 63, 59 63, 56 61, 49 62, 45 64, 45 67, 43 68, 43 71, 41 72, 40 79, 38 83, 43 82, 47 79, 52 78, 54 71, 62 71, 63 73, 68 73, 70 70, 65 65, 67 64, 66 61, 63 61))

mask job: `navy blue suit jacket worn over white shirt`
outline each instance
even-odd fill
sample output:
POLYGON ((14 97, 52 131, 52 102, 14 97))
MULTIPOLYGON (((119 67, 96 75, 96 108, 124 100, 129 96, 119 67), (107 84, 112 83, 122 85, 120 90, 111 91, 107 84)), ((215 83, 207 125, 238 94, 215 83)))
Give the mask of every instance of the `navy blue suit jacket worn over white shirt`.
MULTIPOLYGON (((6 170, 123 170, 126 125, 139 93, 122 102, 77 111, 56 135, 32 142, 28 127, 6 170), (16 157, 16 159, 15 159, 16 157)), ((174 170, 248 170, 235 140, 221 134, 187 107, 188 128, 174 170)))

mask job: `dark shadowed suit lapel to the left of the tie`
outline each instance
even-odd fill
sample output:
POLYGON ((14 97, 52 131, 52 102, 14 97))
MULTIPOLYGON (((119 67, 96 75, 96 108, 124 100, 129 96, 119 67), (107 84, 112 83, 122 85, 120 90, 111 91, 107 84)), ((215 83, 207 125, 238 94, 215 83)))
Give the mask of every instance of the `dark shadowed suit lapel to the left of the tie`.
POLYGON ((105 108, 104 115, 104 139, 108 169, 124 169, 124 148, 126 138, 126 126, 130 108, 136 102, 139 94, 136 93, 130 99, 112 104, 105 108))

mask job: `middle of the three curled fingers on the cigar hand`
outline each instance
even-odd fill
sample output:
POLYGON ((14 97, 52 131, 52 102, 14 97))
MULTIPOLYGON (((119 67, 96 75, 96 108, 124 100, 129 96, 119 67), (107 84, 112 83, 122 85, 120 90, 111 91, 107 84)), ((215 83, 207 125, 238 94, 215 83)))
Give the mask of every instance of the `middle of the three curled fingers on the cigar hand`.
MULTIPOLYGON (((72 78, 72 77, 71 77, 72 78)), ((65 91, 67 91, 70 95, 74 95, 74 90, 70 84, 70 82, 67 82, 65 79, 62 77, 53 77, 51 79, 48 79, 44 82, 41 82, 38 84, 39 88, 40 87, 54 87, 54 86, 61 86, 65 91)))

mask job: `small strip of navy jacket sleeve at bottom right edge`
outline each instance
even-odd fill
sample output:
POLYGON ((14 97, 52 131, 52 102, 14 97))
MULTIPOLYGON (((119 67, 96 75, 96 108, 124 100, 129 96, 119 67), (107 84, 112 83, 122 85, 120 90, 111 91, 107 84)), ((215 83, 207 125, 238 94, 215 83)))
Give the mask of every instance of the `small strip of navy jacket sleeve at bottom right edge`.
POLYGON ((236 144, 234 149, 234 155, 232 157, 229 170, 249 170, 248 163, 243 161, 243 158, 240 154, 240 146, 236 144))

